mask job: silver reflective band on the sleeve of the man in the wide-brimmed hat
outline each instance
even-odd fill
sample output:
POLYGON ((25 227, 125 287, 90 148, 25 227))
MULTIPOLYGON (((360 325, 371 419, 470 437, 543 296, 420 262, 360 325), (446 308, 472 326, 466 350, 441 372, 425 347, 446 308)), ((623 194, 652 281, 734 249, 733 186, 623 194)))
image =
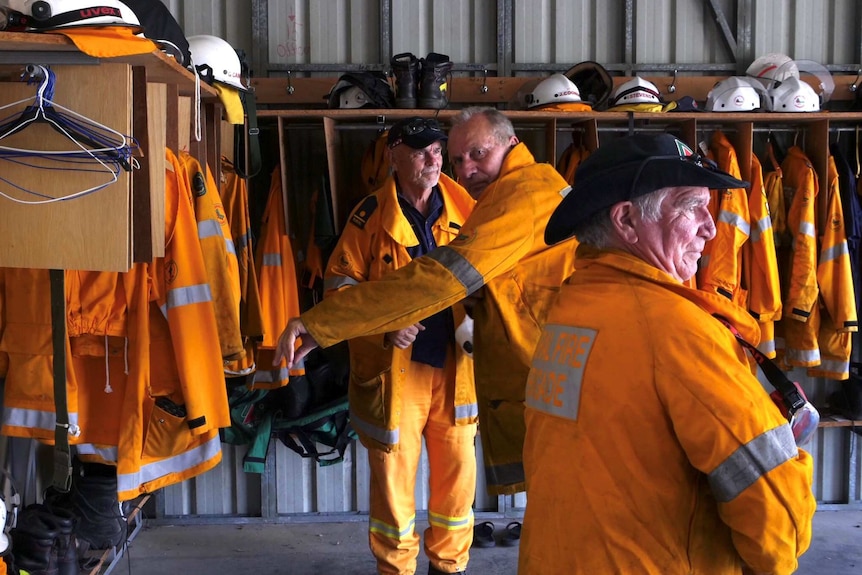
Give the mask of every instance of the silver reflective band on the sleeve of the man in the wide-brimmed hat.
POLYGON ((740 446, 709 474, 709 485, 720 503, 733 501, 755 481, 798 455, 786 423, 740 446))

